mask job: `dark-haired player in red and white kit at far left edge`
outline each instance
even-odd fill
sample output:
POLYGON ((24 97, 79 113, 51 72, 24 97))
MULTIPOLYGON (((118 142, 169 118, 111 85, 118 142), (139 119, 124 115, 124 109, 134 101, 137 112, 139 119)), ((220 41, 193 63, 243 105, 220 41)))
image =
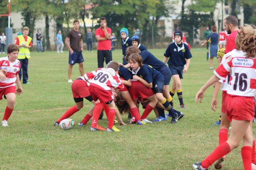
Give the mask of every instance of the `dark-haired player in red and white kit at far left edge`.
POLYGON ((3 99, 3 95, 7 100, 2 126, 8 126, 7 121, 14 109, 16 94, 23 93, 19 78, 20 61, 17 60, 18 54, 18 46, 10 44, 7 47, 7 57, 0 58, 0 100, 3 99), (15 83, 18 87, 17 90, 15 83))

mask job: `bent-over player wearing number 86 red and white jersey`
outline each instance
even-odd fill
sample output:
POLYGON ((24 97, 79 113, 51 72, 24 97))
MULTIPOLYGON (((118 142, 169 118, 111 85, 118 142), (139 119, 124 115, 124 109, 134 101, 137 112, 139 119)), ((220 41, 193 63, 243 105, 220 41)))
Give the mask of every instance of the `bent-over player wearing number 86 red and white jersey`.
POLYGON ((108 132, 114 132, 113 127, 116 105, 113 101, 112 90, 114 88, 122 89, 124 84, 118 75, 119 65, 115 61, 108 63, 107 68, 98 68, 96 71, 92 71, 84 74, 85 79, 90 80, 89 91, 94 101, 99 99, 100 103, 95 105, 93 110, 93 120, 90 127, 91 131, 97 131, 97 122, 99 115, 102 111, 102 105, 107 104, 109 107, 108 112, 108 132))

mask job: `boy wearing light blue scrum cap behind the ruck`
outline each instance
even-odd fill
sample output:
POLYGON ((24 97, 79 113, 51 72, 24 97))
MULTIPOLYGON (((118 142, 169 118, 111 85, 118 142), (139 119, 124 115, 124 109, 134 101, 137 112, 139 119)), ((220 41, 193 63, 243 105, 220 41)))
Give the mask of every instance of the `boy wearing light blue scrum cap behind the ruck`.
POLYGON ((125 60, 125 51, 126 48, 132 45, 131 38, 128 37, 129 31, 127 28, 121 28, 120 29, 120 37, 122 38, 122 54, 123 54, 123 65, 128 64, 128 62, 125 60))

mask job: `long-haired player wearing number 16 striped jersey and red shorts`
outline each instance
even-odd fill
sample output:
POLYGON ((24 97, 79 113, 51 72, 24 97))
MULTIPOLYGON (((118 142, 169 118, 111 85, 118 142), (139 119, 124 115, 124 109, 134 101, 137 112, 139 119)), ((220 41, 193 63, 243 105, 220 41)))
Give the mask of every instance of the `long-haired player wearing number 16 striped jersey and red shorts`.
POLYGON ((227 88, 226 113, 232 122, 230 138, 219 144, 215 150, 201 162, 193 164, 195 170, 207 170, 214 161, 227 155, 231 150, 239 147, 243 140, 241 156, 244 170, 252 169, 253 132, 250 124, 254 117, 254 95, 256 93, 256 29, 250 25, 241 26, 239 34, 240 50, 227 53, 227 59, 214 71, 214 75, 198 91, 195 102, 202 102, 206 89, 219 79, 230 79, 227 88))

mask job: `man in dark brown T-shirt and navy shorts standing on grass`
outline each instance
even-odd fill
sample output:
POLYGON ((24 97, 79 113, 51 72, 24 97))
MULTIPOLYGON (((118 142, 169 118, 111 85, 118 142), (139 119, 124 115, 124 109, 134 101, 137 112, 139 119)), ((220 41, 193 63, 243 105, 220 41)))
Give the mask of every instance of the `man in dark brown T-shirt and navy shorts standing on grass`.
POLYGON ((83 40, 82 40, 82 33, 79 31, 79 20, 74 20, 73 22, 74 29, 69 31, 67 33, 67 37, 65 40, 65 44, 67 48, 69 49, 69 59, 68 59, 68 81, 67 82, 73 82, 71 79, 72 74, 72 68, 73 65, 76 63, 79 63, 79 71, 81 76, 84 76, 84 57, 82 55, 82 51, 84 51, 83 48, 83 40), (68 42, 70 41, 70 45, 68 42))

